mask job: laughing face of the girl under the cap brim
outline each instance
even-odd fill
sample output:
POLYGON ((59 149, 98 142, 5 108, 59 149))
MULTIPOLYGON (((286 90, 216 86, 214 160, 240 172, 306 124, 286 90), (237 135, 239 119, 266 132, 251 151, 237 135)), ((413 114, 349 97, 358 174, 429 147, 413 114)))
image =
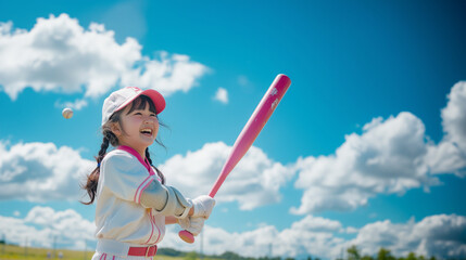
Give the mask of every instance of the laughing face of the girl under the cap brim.
POLYGON ((155 113, 150 110, 148 103, 143 108, 138 106, 131 112, 130 109, 131 105, 123 109, 119 125, 114 123, 112 131, 121 145, 133 147, 144 158, 146 148, 153 144, 159 132, 159 119, 155 113))

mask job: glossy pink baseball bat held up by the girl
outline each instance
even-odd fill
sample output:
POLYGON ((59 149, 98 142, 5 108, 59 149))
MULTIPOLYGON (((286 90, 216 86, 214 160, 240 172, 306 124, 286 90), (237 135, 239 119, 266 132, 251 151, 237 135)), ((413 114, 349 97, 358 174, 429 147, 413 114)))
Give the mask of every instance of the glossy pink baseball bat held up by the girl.
MULTIPOLYGON (((209 196, 214 197, 217 194, 218 188, 225 182, 225 179, 238 164, 238 161, 244 156, 249 147, 251 147, 254 140, 257 138, 261 130, 264 128, 268 118, 274 113, 281 98, 284 98, 288 88, 291 84, 290 78, 284 74, 277 75, 274 82, 268 88, 261 103, 259 103, 252 116, 249 118, 241 133, 235 141, 234 147, 218 176, 214 185, 212 186, 209 196)), ((179 237, 186 243, 193 243, 194 236, 189 231, 180 231, 179 237)))

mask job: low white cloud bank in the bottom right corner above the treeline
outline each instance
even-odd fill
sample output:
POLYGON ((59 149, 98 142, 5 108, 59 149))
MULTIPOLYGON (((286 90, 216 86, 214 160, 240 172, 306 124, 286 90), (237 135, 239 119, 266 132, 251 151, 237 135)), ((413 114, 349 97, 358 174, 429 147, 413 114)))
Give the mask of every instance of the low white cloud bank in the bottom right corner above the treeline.
POLYGON ((414 219, 404 224, 389 220, 366 224, 356 238, 345 243, 358 245, 364 255, 374 255, 380 247, 390 249, 394 256, 413 251, 421 256, 464 258, 466 256, 466 217, 437 214, 414 219))

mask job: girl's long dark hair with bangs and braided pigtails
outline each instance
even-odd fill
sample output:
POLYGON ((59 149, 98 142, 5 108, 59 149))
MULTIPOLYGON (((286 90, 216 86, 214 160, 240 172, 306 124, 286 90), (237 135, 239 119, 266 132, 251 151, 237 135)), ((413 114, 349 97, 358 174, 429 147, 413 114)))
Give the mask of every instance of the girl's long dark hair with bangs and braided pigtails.
MULTIPOLYGON (((131 104, 130 104, 131 107, 129 108, 129 112, 127 114, 129 114, 136 109, 146 109, 146 106, 148 104, 149 104, 149 110, 155 114, 155 105, 153 104, 152 100, 146 95, 140 95, 137 99, 135 99, 131 102, 131 104)), ((98 156, 95 157, 96 161, 97 161, 97 167, 96 167, 96 169, 93 169, 93 171, 90 174, 87 176, 86 183, 83 183, 80 185, 81 188, 86 190, 87 194, 89 195, 89 202, 87 202, 87 203, 80 202, 81 204, 91 205, 96 200, 97 185, 99 183, 99 176, 100 176, 100 162, 102 162, 103 158, 105 157, 106 150, 109 148, 110 144, 114 147, 118 146, 118 139, 112 132, 111 126, 112 126, 112 123, 118 123, 119 127, 122 128, 121 115, 122 115, 123 110, 124 109, 119 109, 119 110, 113 113, 113 115, 110 117, 109 121, 102 126, 103 140, 102 140, 102 144, 100 145, 100 151, 98 153, 98 156)), ((158 119, 159 119, 159 116, 158 116, 158 119)), ((166 127, 161 121, 159 121, 159 125, 162 127, 166 127)), ((155 142, 158 144, 160 144, 161 146, 165 147, 165 145, 159 139, 156 139, 155 142)), ((149 164, 155 169, 158 176, 162 180, 162 184, 165 184, 164 174, 155 166, 152 165, 152 159, 150 157, 149 147, 146 148, 146 158, 148 159, 149 164)))

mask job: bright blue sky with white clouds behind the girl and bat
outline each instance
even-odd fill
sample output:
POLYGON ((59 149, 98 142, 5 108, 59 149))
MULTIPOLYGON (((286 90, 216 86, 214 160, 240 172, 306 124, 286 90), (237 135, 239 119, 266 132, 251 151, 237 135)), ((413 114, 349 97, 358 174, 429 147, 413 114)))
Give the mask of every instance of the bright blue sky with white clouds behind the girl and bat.
MULTIPOLYGON (((465 1, 1 1, 0 233, 93 248, 103 100, 166 99, 152 158, 205 194, 277 74, 291 87, 217 194, 203 250, 466 256, 465 1), (223 93, 218 94, 218 93, 223 93), (61 110, 74 107, 72 119, 61 110), (234 243, 232 243, 234 242, 234 243), (273 250, 270 251, 269 248, 273 250)), ((161 246, 199 250, 171 227, 161 246)))

